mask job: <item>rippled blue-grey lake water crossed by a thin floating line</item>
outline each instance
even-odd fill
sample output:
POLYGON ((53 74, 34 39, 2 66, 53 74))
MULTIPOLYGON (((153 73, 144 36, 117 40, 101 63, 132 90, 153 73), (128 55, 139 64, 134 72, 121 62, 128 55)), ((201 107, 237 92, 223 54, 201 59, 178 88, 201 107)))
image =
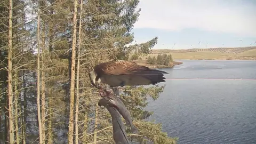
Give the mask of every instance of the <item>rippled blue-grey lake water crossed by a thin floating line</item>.
MULTIPOLYGON (((256 61, 186 60, 147 107, 178 143, 256 143, 256 61), (203 79, 210 78, 210 79, 203 79), (212 78, 212 79, 211 79, 212 78), (217 78, 217 79, 214 79, 217 78)), ((162 84, 161 84, 162 85, 162 84)))

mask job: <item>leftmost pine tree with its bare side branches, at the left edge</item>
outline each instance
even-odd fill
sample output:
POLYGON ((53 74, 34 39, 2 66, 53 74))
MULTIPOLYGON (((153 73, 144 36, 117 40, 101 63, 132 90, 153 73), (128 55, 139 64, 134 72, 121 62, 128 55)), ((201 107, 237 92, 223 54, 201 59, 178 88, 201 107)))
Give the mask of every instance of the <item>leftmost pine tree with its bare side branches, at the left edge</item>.
POLYGON ((24 9, 23 1, 0 1, 0 103, 4 104, 0 107, 0 141, 10 143, 19 142, 23 129, 19 121, 24 114, 20 107, 20 69, 27 69, 31 63, 24 9))

